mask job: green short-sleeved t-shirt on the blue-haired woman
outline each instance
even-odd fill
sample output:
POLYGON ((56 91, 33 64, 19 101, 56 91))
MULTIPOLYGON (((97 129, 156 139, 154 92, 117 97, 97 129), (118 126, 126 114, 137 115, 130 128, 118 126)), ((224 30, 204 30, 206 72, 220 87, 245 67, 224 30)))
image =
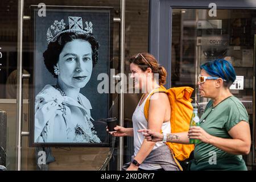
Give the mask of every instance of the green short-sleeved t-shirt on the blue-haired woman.
MULTIPOLYGON (((240 121, 249 121, 245 106, 234 96, 226 98, 215 107, 212 104, 213 101, 210 100, 200 119, 200 127, 210 135, 220 138, 232 138, 228 131, 240 121)), ((226 169, 246 169, 242 155, 229 154, 208 143, 200 142, 196 144, 194 157, 195 165, 191 166, 192 170, 196 170, 196 168, 201 170, 208 168, 223 169, 223 167, 225 169, 222 164, 226 165, 229 160, 231 162, 228 162, 226 169), (216 159, 215 162, 214 158, 216 159)))

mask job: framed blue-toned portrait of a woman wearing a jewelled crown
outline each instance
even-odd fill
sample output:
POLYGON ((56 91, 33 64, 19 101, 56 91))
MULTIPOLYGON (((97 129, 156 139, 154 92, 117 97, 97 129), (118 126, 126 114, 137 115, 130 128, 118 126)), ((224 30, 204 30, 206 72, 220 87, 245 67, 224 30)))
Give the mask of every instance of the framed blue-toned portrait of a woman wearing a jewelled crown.
POLYGON ((112 7, 31 6, 30 147, 109 147, 112 7))

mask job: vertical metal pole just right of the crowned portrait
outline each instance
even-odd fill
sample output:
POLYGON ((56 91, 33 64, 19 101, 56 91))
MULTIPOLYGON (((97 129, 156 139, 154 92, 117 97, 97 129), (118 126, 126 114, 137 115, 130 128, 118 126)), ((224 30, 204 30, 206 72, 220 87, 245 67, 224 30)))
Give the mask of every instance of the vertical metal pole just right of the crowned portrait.
MULTIPOLYGON (((120 45, 120 73, 125 73, 125 0, 121 0, 121 45, 120 45)), ((119 94, 119 126, 123 126, 123 86, 125 84, 121 78, 121 94, 119 94)), ((123 137, 119 137, 118 154, 117 154, 117 168, 121 171, 123 166, 123 137)))

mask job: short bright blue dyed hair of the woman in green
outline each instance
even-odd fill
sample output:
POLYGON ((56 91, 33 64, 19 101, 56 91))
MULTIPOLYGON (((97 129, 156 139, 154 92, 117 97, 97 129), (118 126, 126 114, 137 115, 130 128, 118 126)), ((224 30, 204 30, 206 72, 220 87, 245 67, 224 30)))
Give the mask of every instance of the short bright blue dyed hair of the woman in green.
POLYGON ((236 72, 232 64, 224 59, 216 59, 207 63, 201 64, 201 69, 204 69, 210 76, 220 77, 224 81, 224 87, 229 88, 236 80, 236 72))

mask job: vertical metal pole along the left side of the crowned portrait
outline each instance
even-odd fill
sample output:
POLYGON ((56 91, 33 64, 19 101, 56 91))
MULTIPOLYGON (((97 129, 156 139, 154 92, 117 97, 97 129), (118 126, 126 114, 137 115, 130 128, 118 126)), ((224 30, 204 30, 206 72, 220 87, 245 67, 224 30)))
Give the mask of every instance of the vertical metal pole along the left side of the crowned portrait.
POLYGON ((22 32, 23 32, 23 6, 24 0, 18 1, 18 56, 17 56, 17 105, 16 105, 16 121, 18 121, 18 128, 16 143, 16 169, 21 170, 22 158, 22 32))

